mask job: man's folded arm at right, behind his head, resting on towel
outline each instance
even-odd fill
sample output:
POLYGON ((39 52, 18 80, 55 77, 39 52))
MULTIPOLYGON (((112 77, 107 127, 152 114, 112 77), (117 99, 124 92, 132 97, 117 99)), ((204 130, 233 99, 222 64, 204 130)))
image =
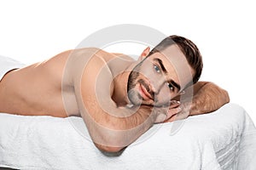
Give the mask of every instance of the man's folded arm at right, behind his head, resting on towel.
POLYGON ((166 122, 173 122, 175 120, 184 119, 187 116, 194 116, 209 113, 218 110, 221 106, 230 102, 229 94, 223 88, 218 87, 213 82, 197 82, 193 86, 187 88, 183 95, 188 95, 193 88, 193 97, 177 96, 176 100, 182 99, 182 111, 172 116, 166 122))

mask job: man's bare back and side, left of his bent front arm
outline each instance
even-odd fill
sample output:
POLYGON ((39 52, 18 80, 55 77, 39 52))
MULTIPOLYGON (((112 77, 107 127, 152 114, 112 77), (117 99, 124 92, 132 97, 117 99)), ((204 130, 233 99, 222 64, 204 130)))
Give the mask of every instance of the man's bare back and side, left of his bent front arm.
MULTIPOLYGON (((72 81, 62 82, 62 77, 71 54, 73 58, 82 56, 83 59, 89 59, 83 56, 86 50, 91 48, 66 51, 43 62, 10 71, 0 82, 0 112, 38 116, 79 116, 72 81), (63 104, 63 93, 68 97, 69 115, 63 104)), ((116 57, 102 50, 99 53, 106 62, 116 57)), ((72 62, 75 62, 75 59, 72 62)), ((73 63, 73 66, 76 64, 73 63)), ((74 74, 68 75, 66 80, 71 80, 74 74)))

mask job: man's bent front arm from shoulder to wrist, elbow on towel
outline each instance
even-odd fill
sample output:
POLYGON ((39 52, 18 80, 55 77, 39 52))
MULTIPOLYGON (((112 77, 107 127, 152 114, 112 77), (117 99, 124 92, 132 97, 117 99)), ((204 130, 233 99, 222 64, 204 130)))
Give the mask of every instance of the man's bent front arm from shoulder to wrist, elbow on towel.
POLYGON ((113 75, 104 59, 91 57, 92 53, 73 54, 68 72, 73 74, 79 111, 91 139, 98 149, 117 152, 145 133, 154 122, 164 121, 168 108, 163 111, 164 108, 147 105, 117 107, 111 99, 113 75))

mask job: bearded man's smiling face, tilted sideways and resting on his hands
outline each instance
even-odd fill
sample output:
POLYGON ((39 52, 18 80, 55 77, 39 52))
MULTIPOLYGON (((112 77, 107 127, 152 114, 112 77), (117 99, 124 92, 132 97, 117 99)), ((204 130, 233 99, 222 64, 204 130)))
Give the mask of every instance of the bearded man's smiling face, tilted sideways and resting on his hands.
POLYGON ((177 45, 172 45, 143 59, 131 71, 128 97, 133 105, 169 105, 193 75, 183 53, 177 45))

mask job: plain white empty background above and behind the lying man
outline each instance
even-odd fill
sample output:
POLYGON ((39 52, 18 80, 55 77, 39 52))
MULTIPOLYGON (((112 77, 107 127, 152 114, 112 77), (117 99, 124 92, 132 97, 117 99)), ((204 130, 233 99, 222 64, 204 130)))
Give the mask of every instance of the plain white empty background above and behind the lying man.
POLYGON ((244 107, 256 122, 253 4, 248 0, 1 1, 0 54, 32 64, 76 48, 107 26, 150 26, 195 42, 204 60, 201 81, 227 89, 231 102, 244 107))

